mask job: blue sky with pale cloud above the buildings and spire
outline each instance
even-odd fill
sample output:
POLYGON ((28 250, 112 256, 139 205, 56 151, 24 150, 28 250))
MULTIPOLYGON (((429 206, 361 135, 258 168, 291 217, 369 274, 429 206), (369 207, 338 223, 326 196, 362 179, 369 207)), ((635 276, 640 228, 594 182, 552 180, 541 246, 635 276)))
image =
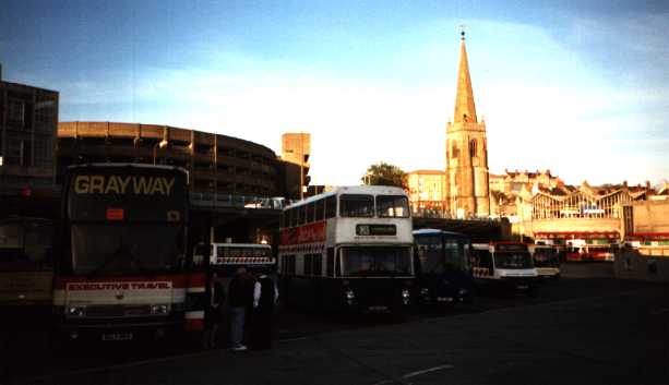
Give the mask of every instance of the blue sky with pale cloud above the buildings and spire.
POLYGON ((459 32, 491 173, 669 179, 669 2, 0 0, 2 79, 60 121, 167 124, 280 155, 313 184, 445 168, 459 32))

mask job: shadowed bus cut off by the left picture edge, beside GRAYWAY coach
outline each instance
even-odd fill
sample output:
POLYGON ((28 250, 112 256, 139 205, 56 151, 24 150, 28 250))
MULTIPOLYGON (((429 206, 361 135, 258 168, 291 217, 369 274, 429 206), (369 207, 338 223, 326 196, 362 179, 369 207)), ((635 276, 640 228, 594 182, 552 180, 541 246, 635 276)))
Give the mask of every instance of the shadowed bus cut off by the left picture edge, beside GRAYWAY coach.
POLYGON ((53 279, 53 221, 10 217, 0 220, 0 324, 48 330, 53 279))

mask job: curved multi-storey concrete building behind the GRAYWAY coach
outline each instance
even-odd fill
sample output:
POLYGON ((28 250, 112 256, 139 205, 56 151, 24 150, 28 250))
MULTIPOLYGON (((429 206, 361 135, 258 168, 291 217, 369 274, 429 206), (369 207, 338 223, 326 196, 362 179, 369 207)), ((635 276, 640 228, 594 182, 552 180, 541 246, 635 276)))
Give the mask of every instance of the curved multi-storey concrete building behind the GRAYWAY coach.
POLYGON ((83 163, 172 165, 191 173, 202 194, 282 196, 276 154, 237 137, 168 125, 116 122, 58 123, 58 176, 83 163))

